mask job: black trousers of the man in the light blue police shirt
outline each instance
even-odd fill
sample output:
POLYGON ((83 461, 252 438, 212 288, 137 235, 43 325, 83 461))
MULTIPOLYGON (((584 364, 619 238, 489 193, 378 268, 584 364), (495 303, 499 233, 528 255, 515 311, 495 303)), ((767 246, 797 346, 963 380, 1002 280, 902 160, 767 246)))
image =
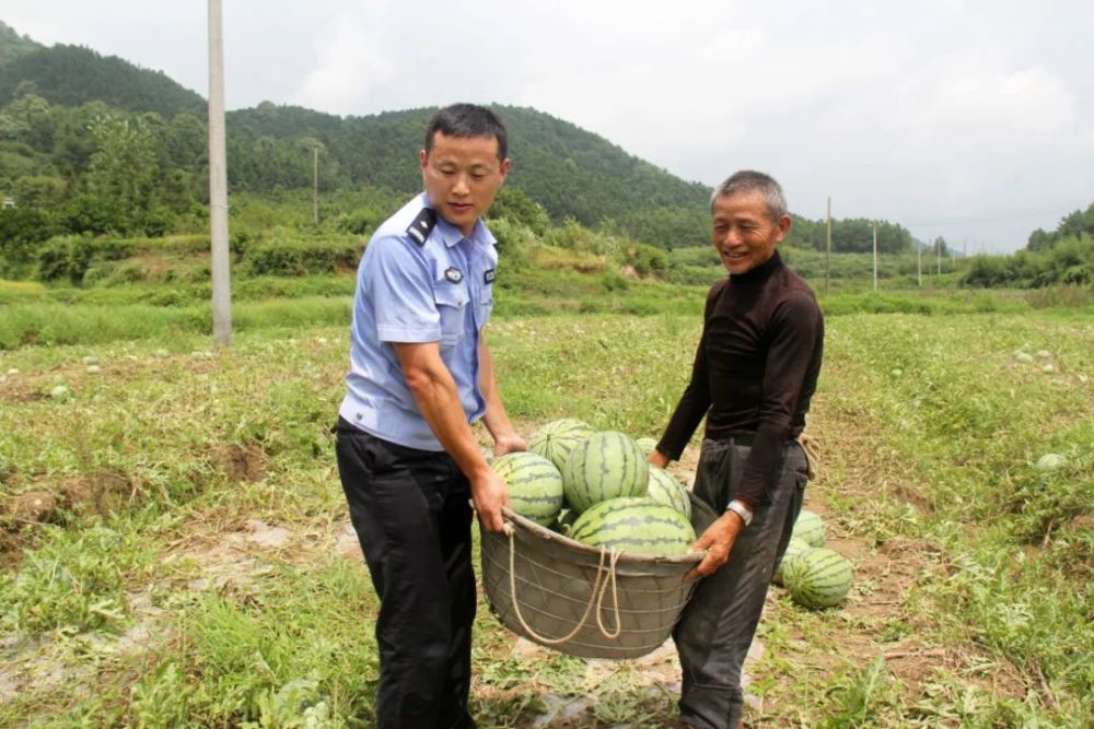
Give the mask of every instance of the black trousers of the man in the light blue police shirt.
POLYGON ((452 457, 339 419, 338 472, 380 596, 379 729, 468 729, 470 486, 452 457))

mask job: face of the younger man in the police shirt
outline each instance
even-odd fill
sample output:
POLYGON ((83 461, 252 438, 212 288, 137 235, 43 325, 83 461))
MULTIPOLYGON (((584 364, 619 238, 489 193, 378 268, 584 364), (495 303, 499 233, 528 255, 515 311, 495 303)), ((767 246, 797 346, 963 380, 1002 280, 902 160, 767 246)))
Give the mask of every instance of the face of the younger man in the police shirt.
POLYGON ((509 174, 509 160, 498 158, 494 137, 433 134, 433 149, 420 155, 421 179, 433 208, 464 235, 486 213, 509 174))

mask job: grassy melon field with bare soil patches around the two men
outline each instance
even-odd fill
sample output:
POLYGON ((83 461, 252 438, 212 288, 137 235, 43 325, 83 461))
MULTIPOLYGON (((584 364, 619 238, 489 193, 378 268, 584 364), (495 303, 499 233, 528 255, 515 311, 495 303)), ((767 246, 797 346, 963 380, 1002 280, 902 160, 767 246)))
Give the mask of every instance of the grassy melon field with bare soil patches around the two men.
MULTIPOLYGON (((217 351, 197 306, 4 294, 0 726, 372 726, 376 601, 329 432, 346 293, 241 302, 217 351)), ((524 435, 577 418, 659 436, 702 291, 673 296, 697 301, 502 302, 489 341, 524 435)), ((1094 314, 1003 296, 824 302, 805 505, 853 584, 825 610, 772 586, 749 727, 1094 726, 1094 314)), ((670 467, 684 482, 697 446, 670 467)), ((572 658, 482 600, 474 660, 484 728, 676 715, 671 645, 572 658)))

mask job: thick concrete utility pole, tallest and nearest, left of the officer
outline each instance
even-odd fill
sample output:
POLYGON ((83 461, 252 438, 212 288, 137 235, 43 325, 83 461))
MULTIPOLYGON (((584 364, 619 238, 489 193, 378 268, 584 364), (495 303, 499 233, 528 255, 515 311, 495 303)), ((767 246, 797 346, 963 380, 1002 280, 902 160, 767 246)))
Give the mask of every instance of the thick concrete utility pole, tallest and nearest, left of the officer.
POLYGON ((232 344, 228 258, 228 164, 224 152, 224 35, 221 0, 209 0, 209 238, 212 255, 212 343, 232 344))

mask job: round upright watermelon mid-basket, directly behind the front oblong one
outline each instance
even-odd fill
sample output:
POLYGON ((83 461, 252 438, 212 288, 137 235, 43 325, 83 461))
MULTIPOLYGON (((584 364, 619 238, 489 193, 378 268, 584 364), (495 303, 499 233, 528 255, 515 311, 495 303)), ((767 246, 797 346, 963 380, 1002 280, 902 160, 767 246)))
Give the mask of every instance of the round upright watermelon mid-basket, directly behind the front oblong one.
POLYGON ((649 481, 650 465, 642 451, 616 431, 594 433, 579 443, 562 467, 566 501, 578 513, 609 498, 644 496, 649 481))

